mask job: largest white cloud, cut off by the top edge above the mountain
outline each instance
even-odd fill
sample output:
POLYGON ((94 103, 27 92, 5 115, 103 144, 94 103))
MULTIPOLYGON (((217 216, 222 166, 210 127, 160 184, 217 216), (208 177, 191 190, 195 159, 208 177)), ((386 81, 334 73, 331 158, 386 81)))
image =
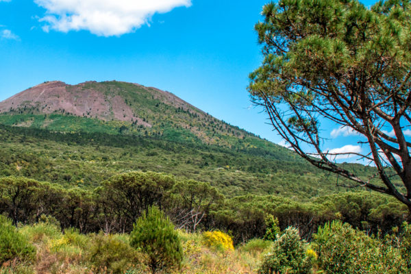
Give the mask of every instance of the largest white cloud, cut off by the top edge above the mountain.
POLYGON ((40 18, 45 32, 85 29, 98 36, 119 36, 148 23, 155 13, 164 13, 191 0, 34 0, 47 10, 40 18))

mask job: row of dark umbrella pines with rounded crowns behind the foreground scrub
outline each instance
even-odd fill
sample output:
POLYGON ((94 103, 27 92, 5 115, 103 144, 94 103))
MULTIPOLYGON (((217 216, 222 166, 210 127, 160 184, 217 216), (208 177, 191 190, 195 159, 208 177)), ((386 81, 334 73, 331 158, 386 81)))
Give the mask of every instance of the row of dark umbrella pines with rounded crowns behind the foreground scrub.
POLYGON ((264 236, 273 240, 278 229, 290 225, 298 227, 303 238, 310 239, 319 226, 333 220, 369 234, 386 234, 410 218, 405 206, 392 197, 373 192, 346 192, 295 201, 275 195, 229 198, 206 185, 140 171, 115 175, 94 190, 63 188, 25 177, 3 177, 0 214, 8 216, 14 225, 36 223, 48 216, 62 229, 124 233, 132 231, 136 219, 150 206, 158 206, 176 227, 190 232, 231 231, 235 243, 264 236), (182 188, 184 185, 189 187, 182 188), (182 192, 189 195, 192 203, 182 200, 182 192))

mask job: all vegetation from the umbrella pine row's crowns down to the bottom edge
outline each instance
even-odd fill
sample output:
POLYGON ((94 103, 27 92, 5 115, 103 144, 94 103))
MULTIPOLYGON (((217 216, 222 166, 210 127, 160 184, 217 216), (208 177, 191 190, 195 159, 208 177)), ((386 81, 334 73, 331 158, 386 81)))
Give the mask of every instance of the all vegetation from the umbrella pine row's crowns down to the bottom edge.
POLYGON ((298 202, 153 172, 94 190, 3 177, 0 273, 409 273, 409 219, 377 193, 298 202))

